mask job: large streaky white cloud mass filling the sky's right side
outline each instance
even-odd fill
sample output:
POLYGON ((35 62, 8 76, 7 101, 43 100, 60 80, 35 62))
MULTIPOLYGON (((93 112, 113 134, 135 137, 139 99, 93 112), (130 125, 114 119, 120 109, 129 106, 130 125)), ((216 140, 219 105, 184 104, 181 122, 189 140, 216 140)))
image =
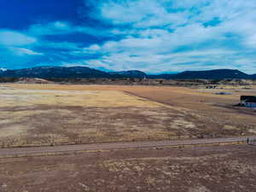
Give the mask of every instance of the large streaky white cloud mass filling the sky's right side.
POLYGON ((108 70, 146 72, 238 68, 256 73, 255 0, 99 1, 98 20, 123 38, 94 45, 87 62, 108 70), (125 26, 125 29, 124 29, 125 26), (239 50, 239 51, 238 51, 239 50))

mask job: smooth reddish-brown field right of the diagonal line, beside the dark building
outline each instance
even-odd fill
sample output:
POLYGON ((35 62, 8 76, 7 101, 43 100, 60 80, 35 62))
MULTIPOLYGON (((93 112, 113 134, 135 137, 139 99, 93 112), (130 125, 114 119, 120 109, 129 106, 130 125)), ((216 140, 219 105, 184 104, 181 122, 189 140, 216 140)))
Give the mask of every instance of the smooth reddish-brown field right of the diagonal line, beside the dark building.
POLYGON ((230 125, 235 128, 234 130, 240 130, 241 135, 247 134, 246 132, 250 135, 255 134, 255 110, 234 106, 240 101, 240 96, 245 94, 242 91, 232 96, 217 96, 174 87, 145 87, 129 89, 127 92, 154 102, 164 103, 172 108, 183 108, 190 115, 197 116, 207 126, 230 125))

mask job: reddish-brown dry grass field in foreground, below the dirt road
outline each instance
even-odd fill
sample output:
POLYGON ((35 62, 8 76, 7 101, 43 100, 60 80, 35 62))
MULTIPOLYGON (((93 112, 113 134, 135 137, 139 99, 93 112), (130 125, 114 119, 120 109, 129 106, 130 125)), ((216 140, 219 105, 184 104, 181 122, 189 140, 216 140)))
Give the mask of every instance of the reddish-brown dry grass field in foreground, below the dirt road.
POLYGON ((0 159, 1 192, 253 192, 253 146, 0 159))

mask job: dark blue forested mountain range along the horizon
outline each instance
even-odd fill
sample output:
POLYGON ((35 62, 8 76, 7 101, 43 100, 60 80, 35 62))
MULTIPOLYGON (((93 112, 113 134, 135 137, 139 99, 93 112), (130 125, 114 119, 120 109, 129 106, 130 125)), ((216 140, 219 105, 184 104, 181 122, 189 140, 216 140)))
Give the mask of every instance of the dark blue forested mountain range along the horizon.
POLYGON ((247 73, 242 73, 239 70, 233 69, 215 69, 207 71, 185 71, 182 73, 163 73, 158 75, 149 75, 137 70, 107 73, 90 67, 32 67, 15 70, 0 68, 0 77, 41 79, 256 79, 256 74, 249 75, 247 73))

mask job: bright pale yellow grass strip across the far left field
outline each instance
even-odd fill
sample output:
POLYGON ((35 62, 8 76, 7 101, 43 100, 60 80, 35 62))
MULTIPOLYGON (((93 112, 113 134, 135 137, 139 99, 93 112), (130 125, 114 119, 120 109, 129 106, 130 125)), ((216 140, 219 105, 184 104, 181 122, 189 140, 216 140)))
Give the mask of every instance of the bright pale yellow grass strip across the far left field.
POLYGON ((0 108, 35 105, 79 107, 148 107, 162 106, 137 96, 114 90, 0 90, 0 108))

